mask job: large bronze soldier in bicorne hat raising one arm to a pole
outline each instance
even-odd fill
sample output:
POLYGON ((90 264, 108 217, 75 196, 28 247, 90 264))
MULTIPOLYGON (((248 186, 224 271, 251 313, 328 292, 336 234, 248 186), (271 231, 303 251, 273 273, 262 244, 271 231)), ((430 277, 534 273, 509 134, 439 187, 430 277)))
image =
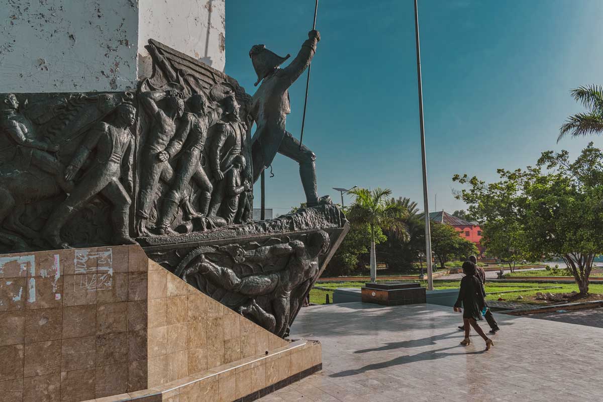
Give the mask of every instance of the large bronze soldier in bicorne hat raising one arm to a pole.
POLYGON ((262 84, 253 95, 251 116, 257 125, 253 135, 253 181, 271 165, 277 152, 300 165, 301 185, 309 207, 318 205, 316 190, 316 155, 301 146, 291 133, 285 130, 287 115, 291 113, 288 88, 310 65, 320 41, 318 31, 308 33, 309 39, 301 45, 297 57, 286 68, 280 69, 286 57, 279 57, 265 45, 254 45, 249 51, 251 63, 257 74, 257 84, 262 84))

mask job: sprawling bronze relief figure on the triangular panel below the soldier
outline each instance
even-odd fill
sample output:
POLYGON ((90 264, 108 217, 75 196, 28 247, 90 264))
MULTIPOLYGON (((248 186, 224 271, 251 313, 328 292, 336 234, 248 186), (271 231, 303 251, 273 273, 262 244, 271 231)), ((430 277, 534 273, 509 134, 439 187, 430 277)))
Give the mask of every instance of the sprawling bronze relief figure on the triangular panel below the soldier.
POLYGON ((306 244, 301 240, 292 240, 271 246, 246 251, 244 261, 270 265, 279 257, 289 256, 284 269, 267 274, 250 275, 239 278, 230 268, 218 266, 203 255, 197 270, 209 281, 227 291, 250 296, 245 306, 239 307, 243 315, 253 316, 264 328, 279 335, 289 333, 289 316, 291 314, 291 292, 308 280, 313 280, 320 270, 318 256, 329 250, 329 235, 324 231, 311 233, 306 244), (260 307, 254 297, 272 295, 274 314, 260 307))

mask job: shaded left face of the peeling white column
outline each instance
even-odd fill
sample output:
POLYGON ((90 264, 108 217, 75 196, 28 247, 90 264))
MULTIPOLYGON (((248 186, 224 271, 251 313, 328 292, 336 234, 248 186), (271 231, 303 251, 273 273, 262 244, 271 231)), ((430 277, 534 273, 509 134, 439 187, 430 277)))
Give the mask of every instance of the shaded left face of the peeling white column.
POLYGON ((0 0, 0 92, 136 87, 135 0, 0 0))

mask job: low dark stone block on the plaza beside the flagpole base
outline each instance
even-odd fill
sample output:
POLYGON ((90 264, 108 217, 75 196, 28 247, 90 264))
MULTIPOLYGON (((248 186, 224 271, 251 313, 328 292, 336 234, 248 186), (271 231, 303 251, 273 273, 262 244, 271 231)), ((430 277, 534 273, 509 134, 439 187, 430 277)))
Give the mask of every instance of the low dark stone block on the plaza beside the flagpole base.
POLYGON ((414 282, 367 283, 362 287, 362 302, 382 306, 426 303, 425 287, 414 282))

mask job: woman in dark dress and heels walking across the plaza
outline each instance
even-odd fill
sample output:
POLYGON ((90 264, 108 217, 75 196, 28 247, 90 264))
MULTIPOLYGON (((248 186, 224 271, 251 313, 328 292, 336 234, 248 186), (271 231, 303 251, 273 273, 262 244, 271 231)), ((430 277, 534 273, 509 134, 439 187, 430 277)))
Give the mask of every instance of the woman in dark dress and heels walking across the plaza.
POLYGON ((469 339, 469 332, 471 327, 481 336, 486 342, 486 350, 490 350, 494 346, 492 339, 488 338, 481 327, 478 325, 478 321, 482 318, 482 309, 485 307, 484 297, 486 292, 484 291, 484 284, 476 276, 475 264, 466 261, 463 263, 463 273, 465 276, 461 279, 461 289, 458 292, 458 299, 454 305, 455 312, 463 312, 463 322, 465 328, 465 339, 461 342, 461 345, 467 346, 471 343, 469 339), (463 306, 464 311, 461 309, 463 306))

